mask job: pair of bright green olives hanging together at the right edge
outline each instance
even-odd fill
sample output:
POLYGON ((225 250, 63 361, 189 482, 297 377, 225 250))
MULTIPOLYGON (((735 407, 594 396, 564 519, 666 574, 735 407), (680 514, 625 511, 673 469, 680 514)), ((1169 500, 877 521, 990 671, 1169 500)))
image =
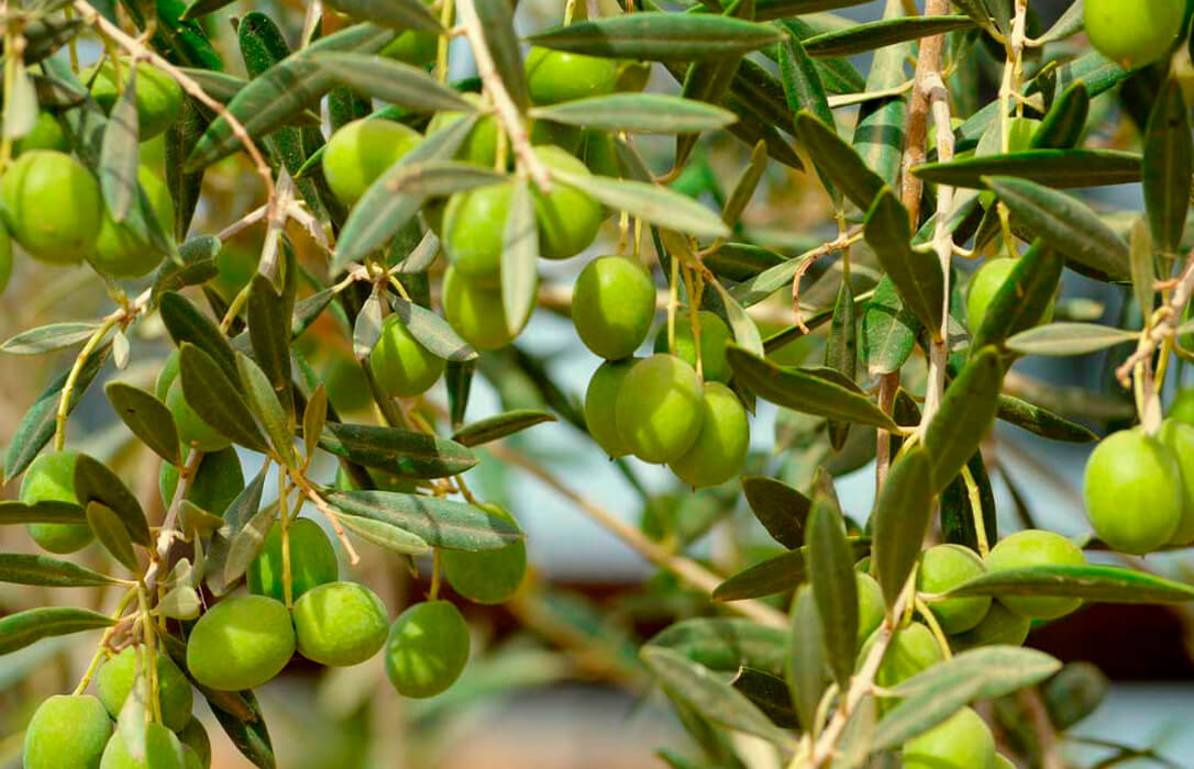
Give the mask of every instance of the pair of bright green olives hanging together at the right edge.
POLYGON ((1194 542, 1194 390, 1177 395, 1156 435, 1135 427, 1103 439, 1083 496, 1095 534, 1121 553, 1194 542))

